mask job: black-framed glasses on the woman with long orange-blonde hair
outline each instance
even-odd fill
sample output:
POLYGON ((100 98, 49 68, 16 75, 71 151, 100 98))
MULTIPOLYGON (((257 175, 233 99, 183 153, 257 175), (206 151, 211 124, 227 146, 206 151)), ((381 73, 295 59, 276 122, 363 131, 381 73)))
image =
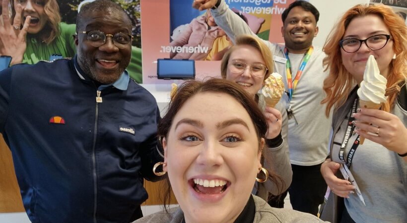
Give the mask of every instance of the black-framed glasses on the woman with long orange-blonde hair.
POLYGON ((343 51, 347 53, 355 53, 360 49, 362 43, 364 42, 370 50, 377 51, 386 46, 390 39, 392 39, 392 36, 390 35, 379 34, 364 40, 359 40, 356 38, 343 39, 339 41, 339 45, 343 51))

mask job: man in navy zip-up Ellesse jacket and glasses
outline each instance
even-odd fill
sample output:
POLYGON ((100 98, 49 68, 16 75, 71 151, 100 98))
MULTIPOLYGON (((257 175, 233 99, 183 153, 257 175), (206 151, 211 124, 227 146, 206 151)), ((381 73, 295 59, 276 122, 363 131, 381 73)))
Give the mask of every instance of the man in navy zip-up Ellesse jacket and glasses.
POLYGON ((129 78, 131 20, 110 0, 84 5, 73 59, 0 73, 0 132, 32 222, 128 223, 162 161, 153 96, 129 78))

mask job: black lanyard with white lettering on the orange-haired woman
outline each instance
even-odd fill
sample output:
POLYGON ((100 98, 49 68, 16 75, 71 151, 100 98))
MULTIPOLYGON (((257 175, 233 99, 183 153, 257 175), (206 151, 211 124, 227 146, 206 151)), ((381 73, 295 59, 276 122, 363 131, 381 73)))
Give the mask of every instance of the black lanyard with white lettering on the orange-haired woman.
POLYGON ((353 145, 350 148, 350 151, 347 154, 347 159, 345 161, 345 158, 344 158, 345 148, 349 141, 350 136, 353 133, 353 130, 355 129, 355 126, 352 124, 352 121, 355 120, 355 118, 352 117, 352 114, 355 113, 355 111, 356 111, 357 100, 358 100, 358 98, 356 97, 355 101, 353 102, 352 109, 350 110, 349 119, 348 119, 347 126, 345 129, 345 135, 343 136, 343 141, 342 141, 342 144, 340 145, 340 149, 339 149, 339 159, 343 163, 345 163, 347 167, 350 167, 350 165, 352 164, 353 155, 355 154, 356 149, 359 146, 359 141, 360 141, 360 136, 358 135, 356 137, 355 141, 353 142, 353 145))

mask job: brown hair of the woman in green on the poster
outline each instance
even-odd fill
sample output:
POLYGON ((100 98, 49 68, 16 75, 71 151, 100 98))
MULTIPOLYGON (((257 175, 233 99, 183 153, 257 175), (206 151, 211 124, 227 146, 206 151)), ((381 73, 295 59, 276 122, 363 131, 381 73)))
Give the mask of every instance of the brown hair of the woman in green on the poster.
MULTIPOLYGON (((12 16, 11 19, 14 20, 15 16, 15 9, 14 9, 14 0, 11 0, 11 10, 12 16)), ((60 35, 60 22, 61 22, 61 14, 60 14, 60 7, 58 6, 57 0, 47 0, 44 5, 44 13, 47 15, 48 20, 45 24, 44 28, 40 31, 42 32, 41 37, 45 36, 44 41, 46 44, 50 44, 54 41, 57 36, 60 35)))

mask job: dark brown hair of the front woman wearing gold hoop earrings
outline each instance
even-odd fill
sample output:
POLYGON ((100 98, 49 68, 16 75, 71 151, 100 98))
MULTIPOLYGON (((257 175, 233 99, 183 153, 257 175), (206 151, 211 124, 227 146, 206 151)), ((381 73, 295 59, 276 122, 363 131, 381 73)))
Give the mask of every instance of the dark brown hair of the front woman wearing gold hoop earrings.
MULTIPOLYGON (((238 101, 245 108, 251 120, 253 121, 256 134, 259 139, 259 150, 263 149, 260 148, 260 140, 261 138, 266 138, 268 129, 267 121, 263 112, 260 110, 255 100, 253 100, 253 98, 251 98, 251 96, 249 96, 246 91, 242 89, 242 87, 234 82, 218 78, 210 78, 206 81, 190 80, 184 82, 181 86, 178 87, 177 91, 171 96, 171 101, 168 104, 167 113, 158 124, 158 135, 160 136, 160 138, 168 136, 172 121, 178 111, 180 111, 182 106, 191 97, 203 92, 227 94, 238 101)), ((274 181, 275 184, 278 185, 277 181, 280 178, 275 175, 272 170, 269 170, 269 179, 271 181, 274 181)), ((171 200, 171 183, 169 181, 168 175, 166 176, 165 184, 167 188, 163 191, 163 200, 164 208, 167 210, 167 206, 171 200)))

